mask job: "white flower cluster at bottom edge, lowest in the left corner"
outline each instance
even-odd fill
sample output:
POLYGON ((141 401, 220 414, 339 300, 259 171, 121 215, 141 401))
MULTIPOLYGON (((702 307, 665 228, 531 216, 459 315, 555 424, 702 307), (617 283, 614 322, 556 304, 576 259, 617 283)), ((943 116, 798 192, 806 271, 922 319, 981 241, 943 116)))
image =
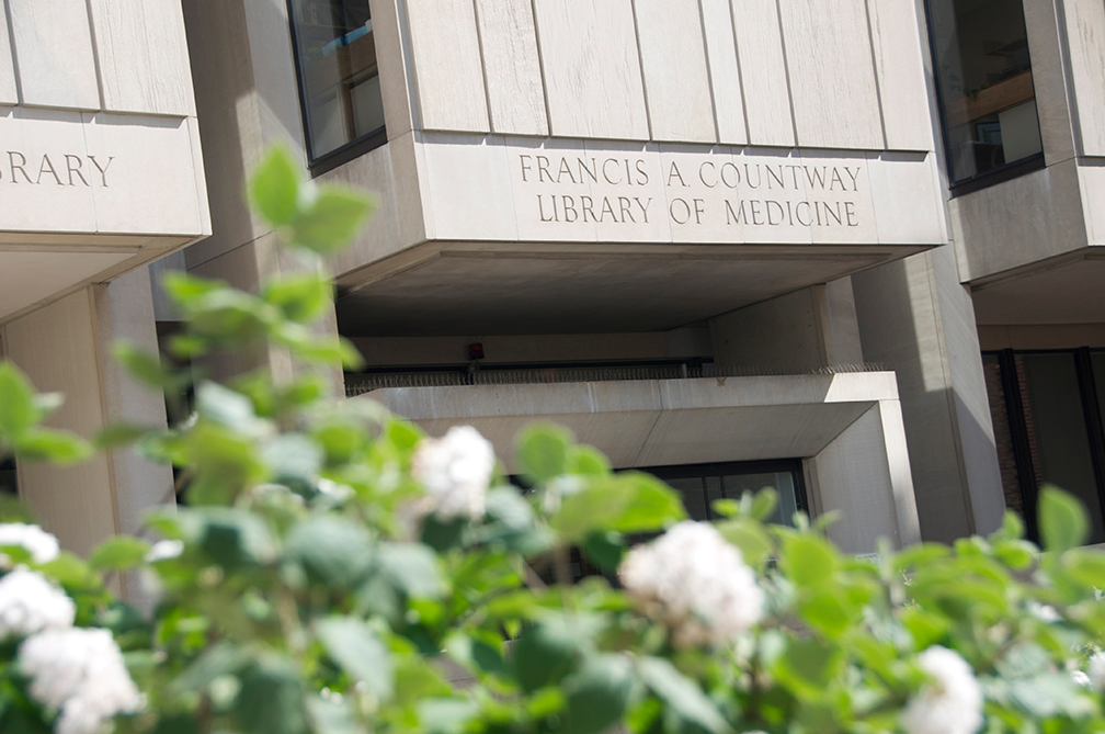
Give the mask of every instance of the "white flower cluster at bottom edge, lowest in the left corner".
POLYGON ((144 704, 106 629, 41 632, 20 646, 19 662, 31 698, 59 712, 55 734, 102 734, 116 714, 144 704))

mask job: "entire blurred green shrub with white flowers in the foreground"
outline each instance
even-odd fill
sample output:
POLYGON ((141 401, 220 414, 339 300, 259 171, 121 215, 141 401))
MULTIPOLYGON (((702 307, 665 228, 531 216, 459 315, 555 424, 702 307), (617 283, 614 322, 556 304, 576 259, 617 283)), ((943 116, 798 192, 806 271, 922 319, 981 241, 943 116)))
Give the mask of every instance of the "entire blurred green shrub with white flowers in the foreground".
MULTIPOLYGON (((307 325, 332 297, 318 256, 368 205, 302 184, 281 154, 251 193, 305 266, 257 294, 167 279, 188 319, 172 356, 275 344, 308 366, 354 363, 307 325)), ((116 356, 170 395, 190 379, 131 346, 116 356)), ((1105 557, 1078 547, 1085 514, 1055 490, 1040 497, 1046 552, 1010 515, 988 538, 884 544, 866 563, 803 518, 762 524, 769 491, 717 503, 716 525, 687 522, 660 481, 530 426, 523 493, 474 429, 429 439, 324 392, 307 369, 200 381, 169 430, 97 437, 179 469, 186 503, 148 517, 154 545, 118 537, 81 559, 25 515, 4 518, 0 731, 1105 730, 1105 557), (640 534, 656 537, 629 548, 640 534), (571 548, 607 576, 571 583, 571 548), (156 590, 150 612, 106 590, 118 572, 156 590)), ((56 405, 0 365, 0 453, 86 457, 42 427, 56 405)))

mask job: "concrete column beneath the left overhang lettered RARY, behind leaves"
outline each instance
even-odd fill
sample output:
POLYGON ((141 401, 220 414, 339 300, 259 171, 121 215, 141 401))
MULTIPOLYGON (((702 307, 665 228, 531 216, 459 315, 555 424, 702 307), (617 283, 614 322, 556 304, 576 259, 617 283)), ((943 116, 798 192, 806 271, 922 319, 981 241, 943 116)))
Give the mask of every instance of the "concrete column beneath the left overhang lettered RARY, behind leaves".
MULTIPOLYGON (((165 398, 134 384, 109 356, 122 338, 157 350, 145 268, 10 322, 3 337, 7 356, 39 391, 65 395, 50 426, 91 437, 114 422, 166 424, 165 398)), ((112 535, 137 534, 146 511, 175 503, 172 470, 133 449, 99 452, 69 468, 20 462, 18 472, 20 496, 64 548, 80 555, 112 535)), ((119 587, 140 600, 126 580, 119 587)))

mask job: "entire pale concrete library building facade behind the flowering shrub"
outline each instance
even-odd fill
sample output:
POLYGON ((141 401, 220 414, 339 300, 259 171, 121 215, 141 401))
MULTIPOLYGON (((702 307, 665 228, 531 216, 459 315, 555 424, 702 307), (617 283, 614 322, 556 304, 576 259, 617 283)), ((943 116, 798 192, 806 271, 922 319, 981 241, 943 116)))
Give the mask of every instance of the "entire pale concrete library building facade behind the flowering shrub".
MULTIPOLYGON (((323 327, 367 363, 334 376, 347 399, 473 423, 507 460, 526 422, 566 423, 701 517, 771 484, 781 520, 841 511, 855 553, 992 531, 1039 482, 991 352, 1000 386, 1017 350, 1103 346, 1105 13, 1082 3, 1024 0, 1028 72, 987 35, 1003 0, 61 4, 44 25, 9 0, 0 38, 0 340, 70 394, 62 426, 165 420, 105 358, 171 331, 165 270, 296 266, 241 196, 276 144, 378 197, 328 263, 323 327), (953 98, 971 39, 1013 71, 953 98)), ((125 452, 15 474, 78 550, 172 496, 125 452)))

